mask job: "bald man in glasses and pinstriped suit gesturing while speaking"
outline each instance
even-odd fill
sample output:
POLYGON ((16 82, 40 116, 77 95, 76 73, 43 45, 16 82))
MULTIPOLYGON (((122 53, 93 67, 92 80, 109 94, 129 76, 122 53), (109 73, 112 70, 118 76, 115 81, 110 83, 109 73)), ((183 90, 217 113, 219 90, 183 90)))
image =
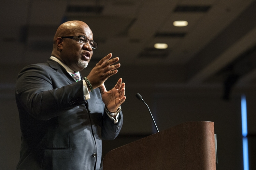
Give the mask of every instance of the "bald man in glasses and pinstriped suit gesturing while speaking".
POLYGON ((57 29, 51 58, 23 68, 16 82, 22 144, 18 170, 93 170, 100 168, 102 139, 114 139, 123 124, 120 105, 125 83, 106 91, 119 58, 105 56, 86 78, 93 55, 93 33, 82 21, 57 29))

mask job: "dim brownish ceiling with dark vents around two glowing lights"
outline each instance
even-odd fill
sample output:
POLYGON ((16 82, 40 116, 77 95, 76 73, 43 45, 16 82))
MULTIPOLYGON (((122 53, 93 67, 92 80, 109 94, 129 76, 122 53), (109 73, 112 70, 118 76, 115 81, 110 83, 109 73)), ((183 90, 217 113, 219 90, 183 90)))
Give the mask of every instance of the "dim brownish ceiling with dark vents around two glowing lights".
POLYGON ((98 43, 92 62, 111 52, 127 67, 182 71, 186 85, 256 83, 255 0, 2 0, 0 9, 1 66, 46 61, 58 26, 82 20, 98 43))

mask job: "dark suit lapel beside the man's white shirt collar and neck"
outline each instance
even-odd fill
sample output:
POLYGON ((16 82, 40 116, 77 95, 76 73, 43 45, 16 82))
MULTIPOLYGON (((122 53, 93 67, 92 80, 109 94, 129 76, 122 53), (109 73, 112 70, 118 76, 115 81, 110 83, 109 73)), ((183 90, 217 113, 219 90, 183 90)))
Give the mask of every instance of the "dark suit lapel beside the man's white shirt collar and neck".
POLYGON ((54 69, 55 71, 57 71, 58 73, 60 73, 63 77, 66 77, 67 79, 65 79, 69 84, 72 84, 75 82, 75 80, 73 79, 73 77, 66 71, 65 68, 63 68, 58 62, 52 60, 51 58, 49 58, 47 60, 47 62, 49 64, 49 66, 54 69))

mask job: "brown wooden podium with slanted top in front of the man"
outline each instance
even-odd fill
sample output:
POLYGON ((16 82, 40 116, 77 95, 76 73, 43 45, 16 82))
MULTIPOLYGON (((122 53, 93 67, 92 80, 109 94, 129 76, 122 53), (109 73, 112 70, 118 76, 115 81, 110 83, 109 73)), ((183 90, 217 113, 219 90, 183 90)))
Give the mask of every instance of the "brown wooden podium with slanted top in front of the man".
POLYGON ((185 122, 107 153, 103 170, 216 170, 213 122, 185 122))

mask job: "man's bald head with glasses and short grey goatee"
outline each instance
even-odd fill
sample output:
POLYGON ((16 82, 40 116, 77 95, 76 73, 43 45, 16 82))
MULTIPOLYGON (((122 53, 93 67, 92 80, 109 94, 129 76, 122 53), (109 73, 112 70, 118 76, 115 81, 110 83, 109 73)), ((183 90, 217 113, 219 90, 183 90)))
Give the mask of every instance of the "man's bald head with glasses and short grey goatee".
POLYGON ((88 43, 81 43, 80 37, 93 40, 93 32, 83 21, 68 21, 59 26, 54 36, 52 56, 58 58, 74 71, 85 68, 93 55, 88 43))

